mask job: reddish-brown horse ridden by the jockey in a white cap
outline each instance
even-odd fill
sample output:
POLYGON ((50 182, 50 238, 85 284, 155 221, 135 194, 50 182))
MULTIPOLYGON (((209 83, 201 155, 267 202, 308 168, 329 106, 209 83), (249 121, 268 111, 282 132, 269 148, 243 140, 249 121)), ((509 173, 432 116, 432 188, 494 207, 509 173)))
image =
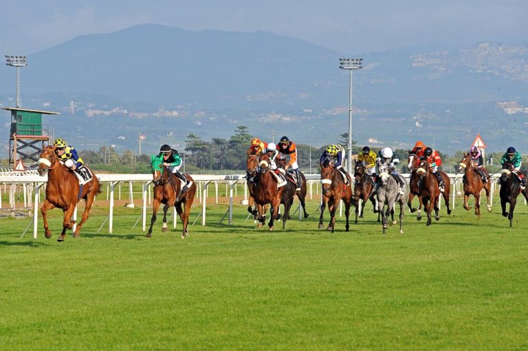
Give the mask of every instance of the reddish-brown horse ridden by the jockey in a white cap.
POLYGON ((277 188, 277 182, 273 171, 270 170, 270 156, 263 153, 259 157, 259 170, 255 179, 255 188, 253 197, 259 212, 259 225, 261 228, 264 225, 264 206, 268 203, 271 205, 271 215, 268 227, 270 231, 274 229, 274 220, 278 220, 281 216, 278 214, 278 207, 281 205, 281 196, 284 192, 284 186, 277 188))

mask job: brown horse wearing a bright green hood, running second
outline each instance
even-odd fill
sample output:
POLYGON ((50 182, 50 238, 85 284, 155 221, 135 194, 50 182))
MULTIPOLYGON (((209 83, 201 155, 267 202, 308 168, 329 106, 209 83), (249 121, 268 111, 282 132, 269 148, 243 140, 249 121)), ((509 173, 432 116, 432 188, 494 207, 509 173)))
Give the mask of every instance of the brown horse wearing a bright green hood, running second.
POLYGON ((154 183, 154 199, 152 201, 153 214, 151 218, 151 226, 148 228, 146 237, 152 238, 152 227, 156 221, 157 209, 159 205, 163 203, 162 231, 168 230, 167 210, 169 207, 174 206, 183 225, 181 229, 181 238, 184 239, 188 236, 187 224, 189 221, 190 207, 192 206, 192 201, 195 199, 196 183, 192 177, 190 177, 190 174, 184 173, 185 177, 192 181, 192 185, 190 185, 186 192, 182 193, 181 181, 177 179, 175 175, 166 168, 166 166, 164 166, 162 157, 153 156, 151 166, 154 183), (183 210, 181 208, 182 204, 184 205, 183 210))

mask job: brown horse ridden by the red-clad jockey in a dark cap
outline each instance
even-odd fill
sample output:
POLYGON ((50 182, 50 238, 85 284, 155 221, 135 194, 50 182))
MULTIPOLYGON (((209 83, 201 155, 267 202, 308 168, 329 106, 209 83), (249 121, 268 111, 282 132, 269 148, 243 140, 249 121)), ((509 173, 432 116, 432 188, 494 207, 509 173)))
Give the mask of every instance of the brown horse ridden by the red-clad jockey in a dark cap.
MULTIPOLYGON (((444 172, 440 172, 443 181, 445 183, 444 185, 444 191, 442 193, 443 199, 445 201, 445 207, 448 209, 448 214, 451 214, 451 209, 449 208, 449 192, 450 192, 450 181, 448 174, 445 174, 444 172)), ((438 184, 437 177, 432 174, 432 169, 430 166, 430 163, 428 161, 420 161, 418 165, 418 169, 416 170, 416 173, 419 176, 419 183, 420 183, 420 192, 419 196, 422 197, 424 208, 427 211, 427 223, 426 225, 431 224, 431 212, 434 208, 434 219, 439 220, 439 195, 440 195, 440 189, 438 184)))

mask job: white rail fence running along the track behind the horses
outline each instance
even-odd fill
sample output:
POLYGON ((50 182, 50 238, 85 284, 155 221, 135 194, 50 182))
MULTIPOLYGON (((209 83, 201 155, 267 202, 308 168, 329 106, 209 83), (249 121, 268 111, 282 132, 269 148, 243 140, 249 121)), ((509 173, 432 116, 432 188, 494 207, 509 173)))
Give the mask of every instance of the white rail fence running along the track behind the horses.
MULTIPOLYGON (((408 179, 409 174, 403 174, 406 179, 408 179)), ((451 181, 451 187, 452 187, 452 208, 455 207, 455 195, 461 194, 462 190, 462 174, 448 174, 451 181)), ((319 194, 319 181, 320 181, 320 174, 305 174, 307 178, 307 185, 308 185, 308 193, 307 196, 309 196, 310 199, 313 199, 314 196, 314 184, 317 186, 315 187, 315 193, 316 195, 319 194)), ((115 188, 118 187, 118 198, 121 199, 121 185, 128 183, 129 185, 129 203, 131 204, 131 207, 133 207, 133 183, 142 183, 142 215, 140 218, 142 219, 142 230, 146 230, 146 210, 148 208, 148 205, 151 204, 151 185, 152 185, 152 174, 97 174, 97 177, 102 185, 105 183, 107 184, 107 200, 109 200, 109 215, 107 219, 104 220, 101 227, 106 223, 108 220, 108 228, 109 228, 109 234, 113 231, 113 210, 115 207, 115 188)), ((233 201, 234 197, 237 197, 237 189, 236 184, 237 183, 243 183, 244 188, 244 194, 243 198, 245 200, 248 199, 248 187, 245 186, 245 179, 243 174, 234 174, 234 175, 209 175, 209 174, 194 174, 192 177, 195 179, 197 183, 197 199, 199 199, 199 203, 201 203, 201 212, 198 215, 201 216, 201 225, 206 225, 206 204, 208 202, 208 187, 211 184, 214 184, 214 203, 219 203, 219 186, 225 185, 225 193, 229 191, 229 207, 227 212, 225 212, 225 216, 228 216, 228 224, 232 224, 232 214, 233 214, 233 201)), ((493 201, 493 194, 495 190, 496 185, 496 178, 498 175, 494 175, 492 179, 492 196, 490 199, 490 202, 493 201)), ((11 170, 4 170, 3 172, 0 172, 0 210, 3 209, 2 204, 2 190, 3 193, 9 192, 9 201, 10 206, 8 207, 8 210, 11 209, 12 211, 15 209, 15 198, 17 193, 17 188, 19 190, 19 196, 20 194, 23 194, 23 207, 25 210, 32 209, 32 222, 28 225, 28 228, 31 224, 33 224, 33 237, 36 238, 37 231, 38 231, 38 218, 39 218, 39 199, 40 199, 40 192, 43 190, 43 187, 45 186, 45 183, 47 182, 47 176, 41 177, 39 174, 36 173, 36 171, 27 171, 27 172, 16 172, 11 170), (3 188, 3 189, 2 189, 3 188), (33 201, 32 201, 33 200, 33 201)), ((100 196, 100 195, 99 195, 100 196)), ((526 202, 526 201, 525 201, 526 202)), ((300 206, 300 205, 299 205, 300 206)), ((300 207, 298 208, 299 211, 299 218, 301 218, 301 210, 300 207)), ((341 207, 340 207, 340 215, 342 214, 341 207)), ((74 211, 74 220, 77 218, 77 208, 74 211)), ((173 226, 176 227, 176 214, 173 214, 173 226)), ((223 220, 222 218, 222 220, 223 220)), ((135 224, 137 224, 137 221, 135 224)), ((196 222, 196 220, 195 220, 196 222)), ((194 222, 194 223, 195 223, 194 222)), ((192 224, 194 224, 192 223, 192 224)), ((135 227, 135 225, 134 225, 135 227)), ((26 231, 27 229, 26 228, 26 231)), ((75 227, 72 229, 75 230, 75 227)), ((25 231, 24 231, 25 233, 25 231)))

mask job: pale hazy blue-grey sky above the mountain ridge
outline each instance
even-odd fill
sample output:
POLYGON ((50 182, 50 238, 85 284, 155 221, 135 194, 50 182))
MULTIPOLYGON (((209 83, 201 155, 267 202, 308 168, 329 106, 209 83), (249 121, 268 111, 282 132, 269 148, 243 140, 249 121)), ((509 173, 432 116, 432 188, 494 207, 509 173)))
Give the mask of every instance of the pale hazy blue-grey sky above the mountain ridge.
POLYGON ((2 0, 2 54, 33 54, 75 36, 140 23, 263 30, 342 54, 435 43, 526 43, 527 0, 2 0))

